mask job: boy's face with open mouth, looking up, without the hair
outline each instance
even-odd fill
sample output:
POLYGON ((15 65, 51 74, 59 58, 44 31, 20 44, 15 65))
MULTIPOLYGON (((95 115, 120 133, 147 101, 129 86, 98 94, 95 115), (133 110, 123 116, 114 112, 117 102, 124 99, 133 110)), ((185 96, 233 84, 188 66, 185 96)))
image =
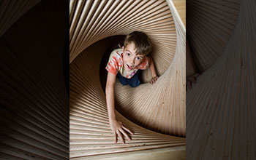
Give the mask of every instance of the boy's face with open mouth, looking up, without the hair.
POLYGON ((123 60, 124 60, 124 69, 126 71, 131 71, 133 68, 136 68, 143 60, 145 55, 136 55, 136 49, 134 43, 127 44, 127 47, 122 48, 123 51, 123 60))

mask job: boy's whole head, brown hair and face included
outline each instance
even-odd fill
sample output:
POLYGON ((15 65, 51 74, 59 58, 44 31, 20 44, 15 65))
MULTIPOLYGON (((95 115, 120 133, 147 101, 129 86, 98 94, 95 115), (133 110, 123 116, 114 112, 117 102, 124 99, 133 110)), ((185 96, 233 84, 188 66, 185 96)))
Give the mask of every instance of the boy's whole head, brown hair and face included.
POLYGON ((151 42, 146 33, 134 31, 124 40, 123 60, 126 71, 137 67, 143 58, 151 52, 151 42))

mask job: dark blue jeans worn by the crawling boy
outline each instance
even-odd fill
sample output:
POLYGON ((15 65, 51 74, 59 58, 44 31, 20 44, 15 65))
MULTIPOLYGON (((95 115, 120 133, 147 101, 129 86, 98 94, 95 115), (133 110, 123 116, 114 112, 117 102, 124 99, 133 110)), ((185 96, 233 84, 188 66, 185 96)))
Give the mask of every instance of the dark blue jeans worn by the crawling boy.
POLYGON ((140 70, 138 70, 134 76, 132 76, 131 79, 127 79, 124 76, 121 76, 121 74, 118 72, 118 77, 119 81, 121 84, 124 86, 129 84, 130 87, 138 87, 140 85, 140 80, 139 80, 139 75, 140 75, 140 70))

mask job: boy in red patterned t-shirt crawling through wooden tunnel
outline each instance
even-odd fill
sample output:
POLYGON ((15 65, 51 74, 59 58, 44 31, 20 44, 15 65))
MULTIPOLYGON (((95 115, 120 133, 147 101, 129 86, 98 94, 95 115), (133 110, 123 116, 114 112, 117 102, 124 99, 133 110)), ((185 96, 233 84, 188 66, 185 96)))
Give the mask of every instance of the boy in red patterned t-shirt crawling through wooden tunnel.
POLYGON ((127 137, 128 140, 131 139, 127 135, 127 132, 133 135, 127 127, 124 127, 124 124, 116 120, 114 102, 114 84, 116 82, 116 75, 118 75, 121 84, 129 84, 131 87, 138 87, 138 85, 140 85, 138 79, 140 70, 150 68, 152 77, 150 83, 154 84, 157 81, 158 76, 154 68, 153 60, 146 56, 150 51, 151 42, 146 33, 134 31, 129 33, 124 40, 124 47, 113 50, 108 60, 108 65, 106 66, 108 78, 105 92, 108 107, 108 119, 110 128, 115 137, 115 143, 117 142, 116 134, 118 134, 122 143, 124 143, 122 135, 127 137))

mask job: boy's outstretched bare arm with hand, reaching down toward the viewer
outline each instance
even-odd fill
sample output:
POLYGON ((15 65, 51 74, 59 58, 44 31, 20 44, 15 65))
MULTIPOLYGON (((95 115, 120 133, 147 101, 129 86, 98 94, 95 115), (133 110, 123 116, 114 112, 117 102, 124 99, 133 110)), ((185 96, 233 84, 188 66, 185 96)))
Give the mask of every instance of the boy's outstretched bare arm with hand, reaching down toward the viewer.
POLYGON ((124 143, 124 138, 122 135, 127 137, 128 140, 131 140, 131 138, 127 135, 127 132, 133 135, 133 133, 124 127, 124 124, 122 124, 120 121, 116 120, 116 114, 115 114, 115 97, 114 97, 114 85, 116 82, 116 75, 113 75, 113 73, 108 72, 108 78, 107 78, 107 84, 106 84, 106 100, 107 100, 107 108, 108 108, 108 119, 110 123, 110 128, 113 131, 115 140, 114 142, 117 142, 117 136, 120 137, 122 143, 124 143))

